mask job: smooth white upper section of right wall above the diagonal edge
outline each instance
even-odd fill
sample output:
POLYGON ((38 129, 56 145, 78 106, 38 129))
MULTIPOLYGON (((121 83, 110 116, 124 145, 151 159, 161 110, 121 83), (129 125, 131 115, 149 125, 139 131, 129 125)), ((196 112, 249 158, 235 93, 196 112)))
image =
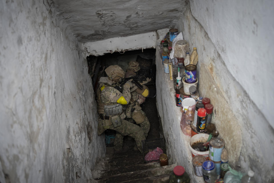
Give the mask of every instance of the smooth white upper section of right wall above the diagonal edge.
POLYGON ((274 1, 191 0, 227 69, 274 128, 274 1))

